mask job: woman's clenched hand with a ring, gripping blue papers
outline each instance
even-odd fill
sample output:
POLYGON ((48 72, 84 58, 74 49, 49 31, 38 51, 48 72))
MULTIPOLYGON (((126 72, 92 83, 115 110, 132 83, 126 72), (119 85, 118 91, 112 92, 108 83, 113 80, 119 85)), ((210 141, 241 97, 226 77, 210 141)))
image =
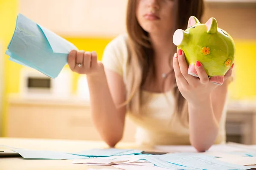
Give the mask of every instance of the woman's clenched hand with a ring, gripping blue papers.
POLYGON ((100 74, 104 71, 103 64, 98 62, 95 51, 72 50, 68 54, 67 63, 72 71, 87 76, 100 74))

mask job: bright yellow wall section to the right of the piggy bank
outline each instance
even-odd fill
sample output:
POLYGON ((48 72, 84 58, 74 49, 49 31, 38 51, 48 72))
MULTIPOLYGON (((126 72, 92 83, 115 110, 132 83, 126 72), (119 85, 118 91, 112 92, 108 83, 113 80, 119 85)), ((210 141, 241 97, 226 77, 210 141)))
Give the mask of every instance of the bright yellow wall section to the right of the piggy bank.
POLYGON ((256 40, 235 40, 235 81, 230 85, 231 99, 256 99, 256 40))

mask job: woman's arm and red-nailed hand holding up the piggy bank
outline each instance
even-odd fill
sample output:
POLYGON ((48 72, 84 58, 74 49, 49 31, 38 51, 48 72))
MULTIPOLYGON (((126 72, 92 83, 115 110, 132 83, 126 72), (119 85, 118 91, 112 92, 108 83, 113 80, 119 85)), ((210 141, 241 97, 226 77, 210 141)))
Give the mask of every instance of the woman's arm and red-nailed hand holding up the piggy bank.
POLYGON ((173 59, 175 78, 180 93, 189 103, 190 142, 198 151, 205 151, 215 142, 218 124, 227 96, 227 80, 232 67, 224 76, 224 83, 219 86, 209 79, 204 66, 196 62, 198 78, 188 74, 188 65, 183 51, 173 59))

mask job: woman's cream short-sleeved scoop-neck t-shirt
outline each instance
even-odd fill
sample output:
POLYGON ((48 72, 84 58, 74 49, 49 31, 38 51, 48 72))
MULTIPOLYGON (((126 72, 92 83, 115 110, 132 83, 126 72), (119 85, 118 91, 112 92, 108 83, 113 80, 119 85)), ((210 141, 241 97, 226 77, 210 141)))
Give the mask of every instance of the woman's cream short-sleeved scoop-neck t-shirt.
MULTIPOLYGON (((105 69, 119 74, 124 83, 126 81, 125 71, 128 58, 127 40, 128 36, 126 34, 113 39, 106 46, 102 58, 105 69)), ((190 144, 189 128, 183 126, 178 118, 172 117, 175 111, 175 97, 171 91, 167 93, 142 91, 142 100, 143 105, 141 106, 140 115, 127 112, 131 120, 137 125, 135 139, 138 144, 190 144)), ((226 141, 225 120, 226 105, 219 122, 219 133, 215 144, 226 141)))

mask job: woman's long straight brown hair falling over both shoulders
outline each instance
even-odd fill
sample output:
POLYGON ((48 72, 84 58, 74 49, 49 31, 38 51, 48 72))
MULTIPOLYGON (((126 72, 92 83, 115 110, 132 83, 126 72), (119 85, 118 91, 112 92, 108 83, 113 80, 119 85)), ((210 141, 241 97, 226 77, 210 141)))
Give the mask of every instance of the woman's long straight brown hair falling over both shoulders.
MULTIPOLYGON (((137 21, 136 6, 137 0, 128 0, 126 26, 128 32, 128 60, 127 60, 127 86, 126 94, 127 109, 132 113, 140 112, 141 105, 141 89, 146 79, 154 77, 155 68, 151 42, 148 33, 143 30, 137 21)), ((177 29, 185 30, 190 16, 195 16, 199 20, 203 15, 204 2, 203 0, 174 0, 174 23, 173 33, 177 29)), ((170 48, 173 54, 177 47, 173 44, 170 48)), ((170 63, 171 64, 171 63, 170 63)), ((176 83, 175 83, 176 84, 176 83)), ((188 122, 188 111, 186 99, 180 94, 177 85, 174 88, 176 97, 175 114, 182 120, 188 122)))

